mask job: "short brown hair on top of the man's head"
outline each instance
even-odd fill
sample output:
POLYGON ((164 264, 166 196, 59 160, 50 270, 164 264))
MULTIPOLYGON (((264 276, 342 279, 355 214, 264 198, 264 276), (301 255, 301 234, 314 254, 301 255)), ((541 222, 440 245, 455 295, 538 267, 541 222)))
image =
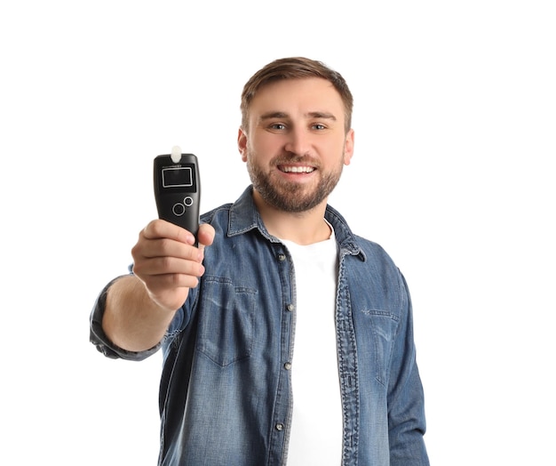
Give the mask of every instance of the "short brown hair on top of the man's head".
POLYGON ((347 87, 346 80, 338 71, 327 67, 321 61, 309 60, 304 57, 291 57, 274 60, 250 77, 243 86, 242 92, 242 128, 246 129, 249 122, 249 107, 258 90, 266 84, 282 79, 303 79, 322 77, 329 81, 340 94, 346 112, 346 133, 352 126, 353 96, 347 87))

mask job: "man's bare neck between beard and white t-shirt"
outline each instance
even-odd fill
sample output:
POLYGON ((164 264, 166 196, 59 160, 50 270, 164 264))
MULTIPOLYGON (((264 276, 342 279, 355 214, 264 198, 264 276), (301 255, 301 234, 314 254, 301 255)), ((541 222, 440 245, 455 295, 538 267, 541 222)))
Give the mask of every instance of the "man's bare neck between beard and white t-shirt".
POLYGON ((253 191, 253 198, 266 230, 272 236, 298 245, 312 245, 330 238, 330 226, 324 221, 326 199, 310 211, 291 213, 266 204, 257 191, 253 191))

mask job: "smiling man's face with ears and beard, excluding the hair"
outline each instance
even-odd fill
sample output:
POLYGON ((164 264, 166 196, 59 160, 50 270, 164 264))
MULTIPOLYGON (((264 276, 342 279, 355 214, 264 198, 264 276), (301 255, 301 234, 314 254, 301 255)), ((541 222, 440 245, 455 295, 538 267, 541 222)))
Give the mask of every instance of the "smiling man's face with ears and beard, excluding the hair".
POLYGON ((268 205, 306 212, 326 202, 353 155, 344 104, 327 80, 267 84, 250 104, 238 147, 253 187, 268 205))

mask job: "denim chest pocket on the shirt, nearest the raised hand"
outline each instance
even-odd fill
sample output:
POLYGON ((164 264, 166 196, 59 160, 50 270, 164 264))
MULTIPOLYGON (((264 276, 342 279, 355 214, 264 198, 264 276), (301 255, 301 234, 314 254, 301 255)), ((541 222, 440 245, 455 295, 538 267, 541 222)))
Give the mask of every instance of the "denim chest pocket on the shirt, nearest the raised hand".
POLYGON ((229 278, 204 277, 197 350, 223 367, 249 358, 256 297, 256 290, 229 278))

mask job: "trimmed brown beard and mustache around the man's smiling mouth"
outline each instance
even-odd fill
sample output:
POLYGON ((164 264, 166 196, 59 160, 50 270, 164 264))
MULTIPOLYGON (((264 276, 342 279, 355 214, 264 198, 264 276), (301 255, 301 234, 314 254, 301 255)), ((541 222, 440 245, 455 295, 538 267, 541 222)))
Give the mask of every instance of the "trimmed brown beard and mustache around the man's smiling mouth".
POLYGON ((307 157, 275 157, 271 161, 270 166, 274 167, 274 170, 278 170, 278 165, 288 163, 308 162, 309 165, 313 165, 320 178, 316 187, 311 188, 306 186, 305 183, 273 180, 272 170, 266 173, 255 164, 254 159, 256 158, 253 157, 252 152, 248 152, 247 171, 251 183, 253 183, 253 188, 258 191, 266 204, 288 213, 303 213, 320 205, 336 188, 344 168, 344 154, 339 159, 336 169, 328 173, 322 172, 320 165, 307 157))

